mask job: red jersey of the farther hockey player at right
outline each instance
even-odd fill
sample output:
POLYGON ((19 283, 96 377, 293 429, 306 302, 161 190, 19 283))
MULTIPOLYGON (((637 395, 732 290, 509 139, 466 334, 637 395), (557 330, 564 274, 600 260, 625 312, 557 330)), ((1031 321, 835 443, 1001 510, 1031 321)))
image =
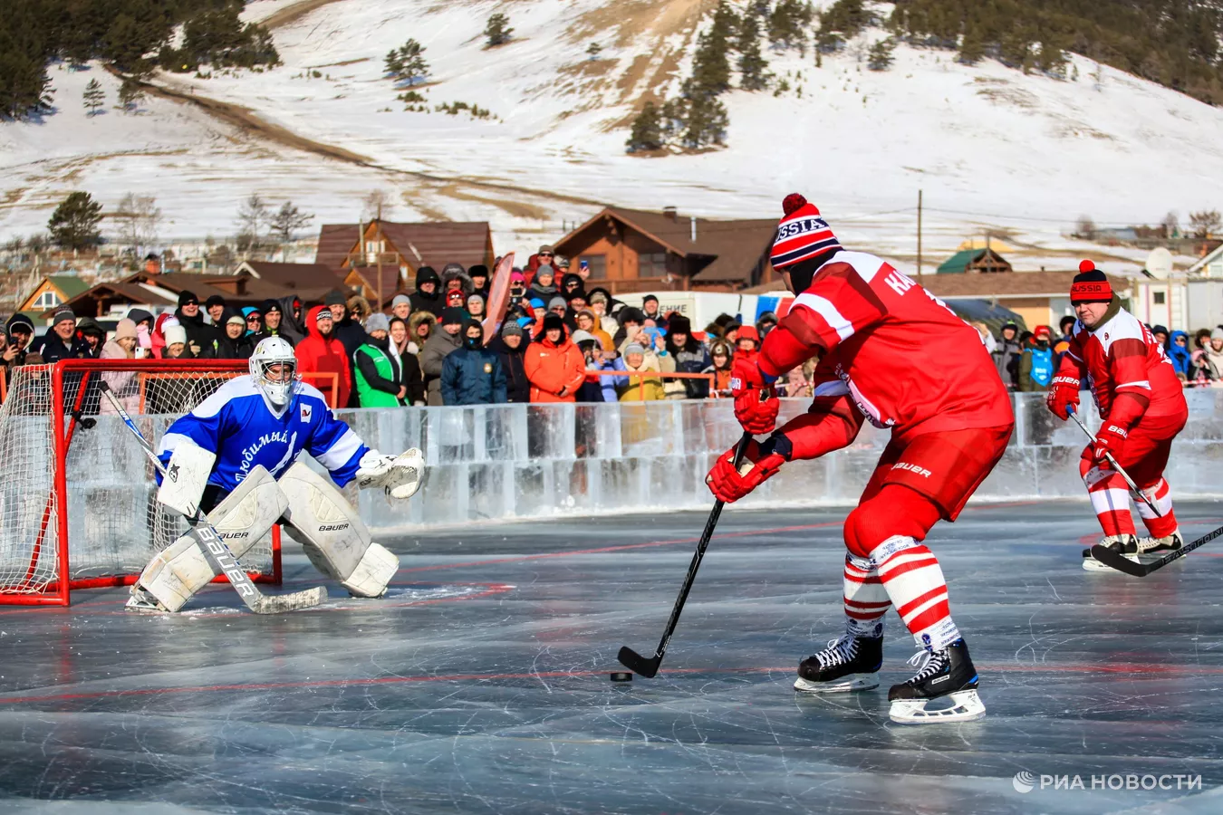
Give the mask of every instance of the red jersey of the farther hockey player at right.
POLYGON ((1071 335, 1058 375, 1086 378, 1102 418, 1108 418, 1118 393, 1134 393, 1139 402, 1150 402, 1145 414, 1151 417, 1189 409, 1163 346, 1124 308, 1118 308, 1095 331, 1075 323, 1071 335))

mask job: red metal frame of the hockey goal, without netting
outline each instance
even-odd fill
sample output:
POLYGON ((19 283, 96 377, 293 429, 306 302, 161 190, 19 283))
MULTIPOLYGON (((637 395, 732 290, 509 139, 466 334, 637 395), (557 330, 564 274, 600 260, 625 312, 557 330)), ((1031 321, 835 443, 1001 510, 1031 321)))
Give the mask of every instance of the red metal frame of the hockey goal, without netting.
MULTIPOLYGON (((111 574, 104 577, 77 578, 71 577, 71 558, 68 545, 68 484, 67 469, 64 466, 67 461, 68 448, 82 419, 82 403, 88 392, 88 382, 92 376, 100 376, 103 373, 146 373, 146 374, 229 374, 240 376, 248 370, 245 359, 62 359, 54 365, 32 365, 34 371, 43 373, 51 378, 51 440, 54 455, 57 462, 54 473, 51 494, 46 496, 46 508, 43 511, 42 523, 34 540, 29 567, 22 580, 16 580, 6 585, 0 585, 0 605, 18 606, 67 606, 71 602, 73 589, 97 589, 109 587, 131 585, 139 577, 138 574, 111 574), (40 369, 40 370, 39 370, 40 369), (76 386, 76 397, 71 406, 65 404, 65 375, 81 374, 81 382, 76 386), (42 555, 43 543, 46 532, 53 522, 53 508, 57 506, 60 511, 55 514, 56 545, 59 560, 59 574, 53 578, 40 590, 31 585, 38 560, 42 555)), ((12 385, 9 382, 7 398, 15 396, 12 385)), ((142 389, 143 393, 143 389, 142 389)), ((143 398, 142 398, 143 403, 143 398)), ((132 444, 136 444, 135 440, 132 444)), ((272 528, 272 573, 252 572, 251 579, 257 583, 270 583, 280 585, 283 579, 280 560, 280 525, 272 528)), ((227 583, 224 574, 213 579, 214 583, 227 583)))

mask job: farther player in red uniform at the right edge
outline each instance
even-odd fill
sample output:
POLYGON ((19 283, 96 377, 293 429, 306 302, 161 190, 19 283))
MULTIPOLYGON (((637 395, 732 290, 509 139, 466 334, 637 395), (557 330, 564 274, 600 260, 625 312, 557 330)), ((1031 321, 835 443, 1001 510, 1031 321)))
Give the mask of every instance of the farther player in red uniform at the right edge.
MULTIPOLYGON (((1163 469, 1172 440, 1189 418, 1185 393, 1163 347, 1121 308, 1104 272, 1091 260, 1079 264, 1079 272, 1070 287, 1079 321, 1049 385, 1048 406, 1066 419, 1079 406, 1080 380, 1087 380, 1101 428, 1096 444, 1082 451, 1079 472, 1104 530, 1101 544, 1135 561, 1148 552, 1162 556, 1184 544, 1163 469), (1109 453, 1158 510, 1157 514, 1139 499, 1139 516, 1150 533, 1146 538, 1135 535, 1130 490, 1108 462, 1109 453)), ((1090 556, 1082 566, 1108 568, 1090 556)))

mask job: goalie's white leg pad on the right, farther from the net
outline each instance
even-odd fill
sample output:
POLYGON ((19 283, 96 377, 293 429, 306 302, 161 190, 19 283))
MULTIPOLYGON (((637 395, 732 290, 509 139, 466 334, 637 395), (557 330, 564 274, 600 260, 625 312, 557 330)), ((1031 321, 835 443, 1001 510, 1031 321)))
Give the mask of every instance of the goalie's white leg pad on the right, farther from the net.
POLYGON ((280 477, 280 489, 289 500, 291 536, 311 563, 357 596, 382 596, 399 558, 371 541, 369 529, 335 485, 297 462, 280 477))

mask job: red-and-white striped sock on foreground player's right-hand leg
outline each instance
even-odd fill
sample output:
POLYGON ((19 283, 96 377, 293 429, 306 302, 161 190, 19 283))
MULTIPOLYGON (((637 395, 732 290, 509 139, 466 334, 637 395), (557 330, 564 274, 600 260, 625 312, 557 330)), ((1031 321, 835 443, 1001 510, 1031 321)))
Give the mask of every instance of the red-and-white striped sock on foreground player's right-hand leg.
POLYGON ((947 580, 926 545, 893 535, 871 552, 879 582, 920 648, 939 651, 960 639, 947 602, 947 580))

